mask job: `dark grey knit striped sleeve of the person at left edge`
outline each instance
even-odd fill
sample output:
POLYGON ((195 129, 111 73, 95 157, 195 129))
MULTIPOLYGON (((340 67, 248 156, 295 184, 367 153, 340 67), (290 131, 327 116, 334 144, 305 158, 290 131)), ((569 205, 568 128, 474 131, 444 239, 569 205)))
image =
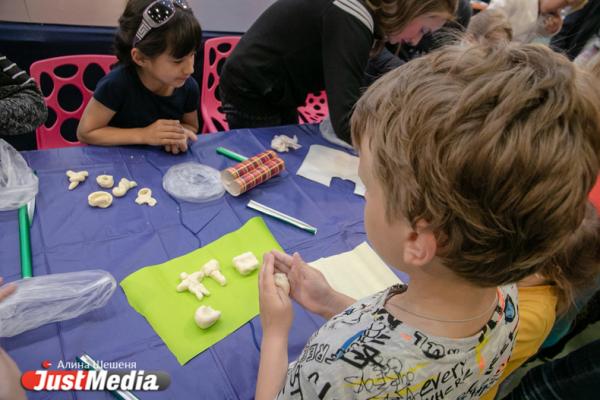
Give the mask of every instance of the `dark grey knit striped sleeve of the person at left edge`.
POLYGON ((47 115, 46 103, 33 78, 0 53, 0 135, 31 132, 47 115))

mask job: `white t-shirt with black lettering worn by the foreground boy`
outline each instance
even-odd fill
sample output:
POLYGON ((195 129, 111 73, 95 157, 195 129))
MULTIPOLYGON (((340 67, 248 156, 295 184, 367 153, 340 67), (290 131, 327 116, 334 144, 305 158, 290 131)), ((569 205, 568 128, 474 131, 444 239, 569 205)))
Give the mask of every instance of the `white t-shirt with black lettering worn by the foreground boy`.
POLYGON ((395 285, 327 321, 289 365, 278 399, 478 399, 498 380, 515 343, 515 285, 477 335, 432 337, 397 320, 386 300, 395 285))

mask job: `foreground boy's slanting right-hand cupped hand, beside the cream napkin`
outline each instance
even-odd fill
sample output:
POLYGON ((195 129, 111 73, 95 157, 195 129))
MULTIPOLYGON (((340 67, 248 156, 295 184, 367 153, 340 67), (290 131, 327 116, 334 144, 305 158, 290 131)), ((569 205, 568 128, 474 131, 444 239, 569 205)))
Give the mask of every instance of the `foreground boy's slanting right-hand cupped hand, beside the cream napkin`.
POLYGON ((273 250, 275 269, 287 275, 290 296, 308 311, 330 318, 354 303, 354 299, 336 292, 321 271, 305 263, 298 253, 290 256, 273 250))

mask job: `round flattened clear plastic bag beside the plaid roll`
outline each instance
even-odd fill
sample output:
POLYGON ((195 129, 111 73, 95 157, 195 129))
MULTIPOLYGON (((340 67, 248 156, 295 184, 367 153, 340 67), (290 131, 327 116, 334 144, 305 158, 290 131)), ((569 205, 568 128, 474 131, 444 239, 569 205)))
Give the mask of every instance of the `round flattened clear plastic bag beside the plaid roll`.
POLYGON ((220 172, 196 162, 169 168, 163 177, 163 189, 176 199, 192 203, 216 200, 225 193, 220 172))

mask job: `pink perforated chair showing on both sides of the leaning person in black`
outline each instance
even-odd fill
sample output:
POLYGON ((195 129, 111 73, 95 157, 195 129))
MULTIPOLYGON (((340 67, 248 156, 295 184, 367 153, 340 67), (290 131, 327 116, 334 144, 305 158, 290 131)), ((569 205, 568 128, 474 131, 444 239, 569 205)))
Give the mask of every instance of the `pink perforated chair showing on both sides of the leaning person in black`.
MULTIPOLYGON (((204 65, 202 72, 202 94, 200 96, 200 111, 204 126, 202 132, 213 133, 229 129, 225 114, 221 109, 221 99, 218 97, 221 68, 240 41, 239 36, 221 36, 208 39, 204 43, 204 65)), ((329 109, 325 91, 319 94, 309 93, 305 105, 298 107, 298 123, 321 122, 329 109)))

